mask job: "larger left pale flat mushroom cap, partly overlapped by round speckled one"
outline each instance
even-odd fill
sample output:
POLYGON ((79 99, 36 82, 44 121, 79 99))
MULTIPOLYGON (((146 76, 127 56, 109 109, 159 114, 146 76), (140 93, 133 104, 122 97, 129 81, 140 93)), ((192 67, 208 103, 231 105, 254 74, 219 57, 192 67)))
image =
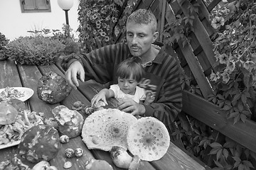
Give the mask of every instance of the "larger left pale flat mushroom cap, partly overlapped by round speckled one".
POLYGON ((127 131, 136 121, 134 115, 118 109, 95 111, 85 119, 82 140, 89 149, 110 151, 113 146, 127 149, 127 131))

